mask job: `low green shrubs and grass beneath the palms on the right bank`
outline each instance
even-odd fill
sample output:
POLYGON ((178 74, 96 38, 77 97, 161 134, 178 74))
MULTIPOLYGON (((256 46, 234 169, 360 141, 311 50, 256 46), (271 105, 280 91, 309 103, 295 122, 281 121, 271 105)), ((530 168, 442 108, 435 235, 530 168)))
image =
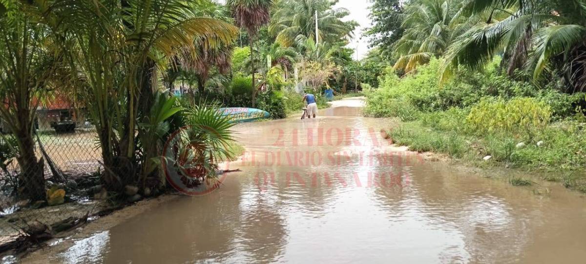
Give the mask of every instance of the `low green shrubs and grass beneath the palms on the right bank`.
MULTIPOLYGON (((482 71, 460 69, 442 86, 438 59, 403 78, 389 69, 379 89, 366 93, 365 113, 406 122, 387 133, 414 151, 445 153, 477 165, 581 170, 586 165, 585 94, 511 80, 498 72, 499 65, 497 57, 482 71), (486 156, 490 160, 484 161, 486 156)), ((573 183, 584 188, 580 184, 586 181, 573 183)))

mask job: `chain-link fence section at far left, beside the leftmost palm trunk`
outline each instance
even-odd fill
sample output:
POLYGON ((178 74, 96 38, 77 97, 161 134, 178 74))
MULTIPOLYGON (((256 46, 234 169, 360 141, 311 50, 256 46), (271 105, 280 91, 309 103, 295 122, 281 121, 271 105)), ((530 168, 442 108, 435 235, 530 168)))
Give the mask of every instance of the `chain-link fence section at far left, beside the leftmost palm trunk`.
POLYGON ((50 238, 114 206, 100 188, 104 168, 91 122, 71 109, 36 115, 32 153, 21 153, 27 140, 15 137, 22 134, 0 126, 0 252, 50 238), (30 195, 34 189, 42 195, 30 195))

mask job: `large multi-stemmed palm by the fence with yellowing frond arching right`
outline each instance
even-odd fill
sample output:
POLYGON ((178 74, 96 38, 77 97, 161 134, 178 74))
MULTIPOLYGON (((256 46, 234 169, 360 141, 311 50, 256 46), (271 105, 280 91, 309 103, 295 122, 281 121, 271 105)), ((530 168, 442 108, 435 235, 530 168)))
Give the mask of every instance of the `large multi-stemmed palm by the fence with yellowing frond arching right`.
MULTIPOLYGON (((197 13, 198 2, 179 0, 35 1, 38 16, 63 41, 77 87, 98 131, 103 181, 121 190, 139 182, 139 164, 156 148, 137 154, 137 129, 155 103, 157 68, 195 40, 231 43, 237 28, 197 13), (59 21, 59 23, 55 23, 59 21), (64 30, 67 29, 67 30, 64 30)), ((138 131, 140 138, 142 131, 138 131)), ((151 144, 151 143, 143 143, 151 144)), ((139 175, 144 178, 148 175, 139 175)))

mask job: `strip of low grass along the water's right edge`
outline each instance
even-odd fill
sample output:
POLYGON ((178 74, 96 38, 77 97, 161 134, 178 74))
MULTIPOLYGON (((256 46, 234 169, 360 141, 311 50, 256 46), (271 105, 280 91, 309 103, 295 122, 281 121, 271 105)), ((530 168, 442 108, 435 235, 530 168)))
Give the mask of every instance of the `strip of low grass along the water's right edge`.
MULTIPOLYGON (((586 135, 571 124, 553 124, 540 131, 533 141, 523 141, 506 133, 469 134, 461 127, 461 121, 445 115, 421 114, 420 119, 400 123, 386 132, 395 144, 406 145, 412 151, 447 154, 454 160, 482 168, 544 171, 541 180, 560 182, 566 188, 586 193, 586 156, 582 152, 586 149, 586 135), (538 146, 539 141, 542 143, 538 146), (524 146, 518 147, 521 142, 524 146)), ((516 186, 534 184, 517 178, 509 182, 516 186)))

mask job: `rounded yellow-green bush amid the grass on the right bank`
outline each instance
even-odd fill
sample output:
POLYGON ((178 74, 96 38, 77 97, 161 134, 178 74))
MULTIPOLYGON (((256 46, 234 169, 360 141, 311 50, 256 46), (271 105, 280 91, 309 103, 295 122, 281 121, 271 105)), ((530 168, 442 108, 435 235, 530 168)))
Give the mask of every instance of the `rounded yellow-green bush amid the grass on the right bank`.
POLYGON ((466 121, 479 133, 522 131, 532 138, 537 128, 549 123, 550 117, 551 109, 543 101, 517 97, 510 101, 484 99, 472 107, 466 121))

